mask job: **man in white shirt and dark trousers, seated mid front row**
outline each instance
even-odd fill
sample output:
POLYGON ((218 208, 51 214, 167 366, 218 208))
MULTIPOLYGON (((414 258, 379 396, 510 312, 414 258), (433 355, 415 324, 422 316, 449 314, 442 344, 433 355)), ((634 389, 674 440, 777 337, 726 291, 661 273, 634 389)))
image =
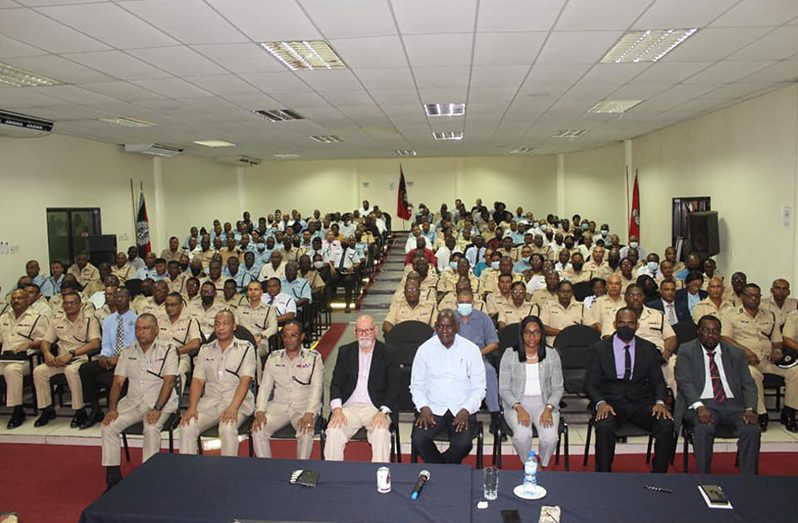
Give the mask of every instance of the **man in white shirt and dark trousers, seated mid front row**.
POLYGON ((451 309, 438 315, 435 332, 413 360, 410 393, 419 412, 413 446, 425 463, 460 463, 471 452, 471 429, 485 398, 485 365, 479 347, 457 335, 451 309), (434 438, 443 428, 449 448, 441 453, 434 438))

